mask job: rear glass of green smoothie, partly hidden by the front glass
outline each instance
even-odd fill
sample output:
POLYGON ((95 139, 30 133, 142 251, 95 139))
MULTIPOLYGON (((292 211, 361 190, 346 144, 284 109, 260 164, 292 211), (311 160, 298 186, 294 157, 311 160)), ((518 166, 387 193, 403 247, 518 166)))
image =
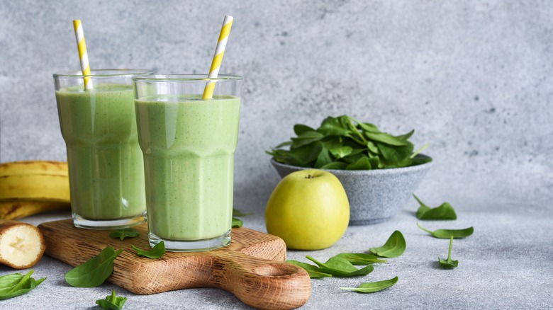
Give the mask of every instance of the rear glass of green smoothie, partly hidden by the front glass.
POLYGON ((145 222, 143 156, 138 145, 133 77, 142 69, 54 74, 67 147, 74 225, 119 229, 145 222), (84 78, 91 89, 84 89, 84 78))

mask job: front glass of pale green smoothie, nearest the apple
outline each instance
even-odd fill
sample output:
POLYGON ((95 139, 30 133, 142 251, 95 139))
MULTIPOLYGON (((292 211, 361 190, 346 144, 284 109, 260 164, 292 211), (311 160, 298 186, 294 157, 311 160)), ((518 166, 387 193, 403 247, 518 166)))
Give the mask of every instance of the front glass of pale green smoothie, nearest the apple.
POLYGON ((208 251, 230 243, 242 78, 145 76, 135 82, 150 246, 208 251), (216 81, 203 100, 206 82, 216 81))

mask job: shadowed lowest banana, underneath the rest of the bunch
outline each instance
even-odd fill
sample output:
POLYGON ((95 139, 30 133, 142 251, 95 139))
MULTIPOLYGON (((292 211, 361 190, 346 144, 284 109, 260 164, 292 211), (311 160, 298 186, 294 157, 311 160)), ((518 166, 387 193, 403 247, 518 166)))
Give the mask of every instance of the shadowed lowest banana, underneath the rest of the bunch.
POLYGON ((61 209, 71 209, 71 205, 67 202, 57 201, 0 200, 0 219, 21 219, 38 213, 61 209))

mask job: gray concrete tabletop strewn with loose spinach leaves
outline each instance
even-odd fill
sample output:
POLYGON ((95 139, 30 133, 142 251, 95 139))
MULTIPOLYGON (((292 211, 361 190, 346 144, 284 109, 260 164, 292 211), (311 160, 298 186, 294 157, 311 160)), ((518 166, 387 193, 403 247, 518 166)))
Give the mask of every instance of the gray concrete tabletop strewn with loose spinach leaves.
MULTIPOLYGON (((393 219, 369 226, 350 226, 343 238, 322 251, 289 251, 288 258, 308 261, 311 255, 326 260, 340 252, 362 252, 380 246, 396 229, 403 232, 407 250, 389 263, 375 264, 367 276, 311 280, 311 298, 302 309, 551 309, 553 307, 553 214, 550 201, 497 203, 490 198, 471 206, 457 207, 456 221, 424 221, 429 229, 474 226, 474 234, 456 239, 452 258, 459 268, 442 270, 438 256, 447 257, 448 240, 435 239, 416 226, 411 200, 393 219), (398 283, 374 294, 345 292, 362 282, 386 280, 398 283)), ((265 231, 262 209, 244 217, 247 227, 265 231)), ((40 222, 69 217, 58 212, 29 217, 40 222)), ((135 295, 111 285, 74 288, 64 274, 71 266, 45 256, 33 268, 34 277, 47 277, 32 292, 0 301, 1 309, 94 309, 96 299, 112 289, 128 297, 126 309, 248 309, 232 294, 221 289, 183 289, 154 295, 135 295)), ((23 270, 25 271, 25 270, 23 270)), ((0 266, 0 275, 13 272, 0 266)), ((99 308, 96 308, 99 309, 99 308)))

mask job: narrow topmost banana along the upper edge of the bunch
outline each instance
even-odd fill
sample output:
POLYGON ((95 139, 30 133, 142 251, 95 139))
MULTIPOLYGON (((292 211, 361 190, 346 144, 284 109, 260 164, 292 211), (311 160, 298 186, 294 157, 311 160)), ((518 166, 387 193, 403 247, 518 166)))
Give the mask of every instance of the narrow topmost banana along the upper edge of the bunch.
POLYGON ((11 161, 0 163, 0 177, 22 174, 50 174, 67 176, 65 161, 11 161))

